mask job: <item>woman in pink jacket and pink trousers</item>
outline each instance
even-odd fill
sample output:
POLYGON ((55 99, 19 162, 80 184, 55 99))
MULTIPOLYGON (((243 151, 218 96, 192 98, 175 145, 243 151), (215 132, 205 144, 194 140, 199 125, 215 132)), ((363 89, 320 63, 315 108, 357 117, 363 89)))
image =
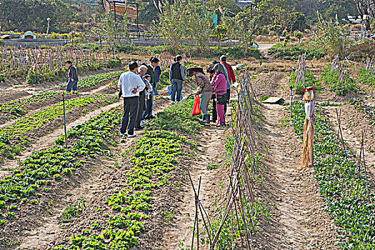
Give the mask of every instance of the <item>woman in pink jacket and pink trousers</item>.
POLYGON ((224 66, 216 64, 210 71, 214 92, 216 93, 216 111, 219 116, 216 126, 225 126, 224 104, 226 104, 226 75, 224 66))

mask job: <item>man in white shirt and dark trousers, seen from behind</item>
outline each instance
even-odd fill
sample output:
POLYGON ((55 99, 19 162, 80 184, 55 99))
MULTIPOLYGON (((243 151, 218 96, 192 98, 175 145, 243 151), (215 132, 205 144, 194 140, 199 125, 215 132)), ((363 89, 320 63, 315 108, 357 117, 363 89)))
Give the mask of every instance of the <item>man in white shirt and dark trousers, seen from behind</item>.
POLYGON ((129 138, 136 136, 134 134, 134 126, 136 126, 136 116, 139 109, 139 92, 143 91, 146 86, 141 77, 136 74, 137 71, 138 64, 135 61, 131 61, 129 72, 121 74, 119 79, 119 88, 121 88, 122 97, 124 98, 124 116, 122 116, 120 134, 125 136, 127 129, 129 138))

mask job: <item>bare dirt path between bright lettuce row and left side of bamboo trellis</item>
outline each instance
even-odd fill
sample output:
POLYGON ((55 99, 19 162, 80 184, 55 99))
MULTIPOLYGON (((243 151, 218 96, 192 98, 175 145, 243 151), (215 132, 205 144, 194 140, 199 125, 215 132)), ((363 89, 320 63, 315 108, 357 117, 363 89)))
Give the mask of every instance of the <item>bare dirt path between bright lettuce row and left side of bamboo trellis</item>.
MULTIPOLYGON (((224 167, 224 144, 228 130, 229 128, 218 129, 215 126, 204 129, 199 135, 200 141, 196 157, 194 161, 191 161, 189 167, 191 179, 193 179, 196 188, 198 188, 199 177, 202 177, 199 198, 207 212, 213 209, 215 201, 223 199, 225 192, 221 184, 225 186, 225 180, 228 179, 224 167), (209 170, 207 169, 209 164, 211 166, 219 166, 219 168, 209 170)), ((186 178, 189 178, 187 174, 186 178)), ((185 247, 190 245, 191 226, 194 224, 195 202, 194 191, 190 181, 186 183, 186 185, 181 187, 180 193, 177 194, 180 196, 181 201, 176 209, 174 221, 169 225, 169 228, 165 229, 161 246, 159 246, 162 249, 175 250, 182 243, 184 243, 185 247)), ((208 245, 205 246, 200 249, 209 249, 208 245)))

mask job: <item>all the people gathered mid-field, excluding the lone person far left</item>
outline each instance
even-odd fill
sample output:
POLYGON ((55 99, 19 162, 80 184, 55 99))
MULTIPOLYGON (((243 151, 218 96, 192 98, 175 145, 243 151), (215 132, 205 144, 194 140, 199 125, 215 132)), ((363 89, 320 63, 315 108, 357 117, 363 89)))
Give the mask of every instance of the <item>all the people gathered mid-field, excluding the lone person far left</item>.
MULTIPOLYGON (((171 81, 171 104, 179 104, 182 99, 182 88, 186 76, 195 76, 200 95, 200 109, 203 113, 201 123, 209 124, 211 121, 216 126, 225 126, 226 105, 229 104, 231 84, 236 81, 234 70, 226 62, 226 56, 221 56, 220 61, 212 61, 207 69, 209 77, 199 67, 184 68, 181 64, 182 56, 177 55, 169 69, 171 81), (210 119, 209 102, 212 101, 212 116, 210 119)), ((154 95, 159 82, 161 69, 159 59, 152 57, 150 64, 140 66, 131 61, 129 71, 121 74, 119 79, 119 98, 124 98, 124 116, 121 122, 121 136, 134 137, 134 130, 144 129, 142 121, 153 119, 152 114, 154 95)))

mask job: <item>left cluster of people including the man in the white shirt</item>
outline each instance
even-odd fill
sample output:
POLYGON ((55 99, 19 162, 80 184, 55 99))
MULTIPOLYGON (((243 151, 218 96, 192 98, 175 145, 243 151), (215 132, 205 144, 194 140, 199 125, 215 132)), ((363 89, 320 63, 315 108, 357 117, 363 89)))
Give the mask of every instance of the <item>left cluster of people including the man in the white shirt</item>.
POLYGON ((129 71, 121 74, 119 79, 119 98, 124 99, 124 116, 122 117, 120 134, 134 137, 134 130, 144 129, 144 122, 154 119, 152 114, 156 85, 159 82, 161 68, 159 59, 151 57, 150 64, 131 61, 129 71))

